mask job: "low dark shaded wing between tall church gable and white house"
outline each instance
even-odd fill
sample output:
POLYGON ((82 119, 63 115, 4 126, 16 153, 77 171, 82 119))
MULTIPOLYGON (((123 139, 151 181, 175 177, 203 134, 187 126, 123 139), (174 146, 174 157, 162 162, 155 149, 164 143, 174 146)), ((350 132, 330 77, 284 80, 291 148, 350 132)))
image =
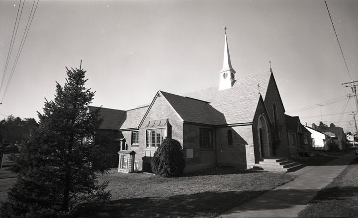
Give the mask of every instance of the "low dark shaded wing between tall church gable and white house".
POLYGON ((312 148, 311 132, 302 124, 298 116, 285 115, 289 156, 305 157, 312 148))

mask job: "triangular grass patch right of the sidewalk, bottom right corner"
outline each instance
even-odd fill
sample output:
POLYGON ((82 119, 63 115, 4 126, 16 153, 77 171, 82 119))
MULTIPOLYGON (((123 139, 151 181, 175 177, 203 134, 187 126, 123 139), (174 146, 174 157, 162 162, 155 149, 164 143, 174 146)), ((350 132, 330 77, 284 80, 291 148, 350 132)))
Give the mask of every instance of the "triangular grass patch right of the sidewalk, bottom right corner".
POLYGON ((358 217, 358 158, 319 191, 299 217, 358 217))

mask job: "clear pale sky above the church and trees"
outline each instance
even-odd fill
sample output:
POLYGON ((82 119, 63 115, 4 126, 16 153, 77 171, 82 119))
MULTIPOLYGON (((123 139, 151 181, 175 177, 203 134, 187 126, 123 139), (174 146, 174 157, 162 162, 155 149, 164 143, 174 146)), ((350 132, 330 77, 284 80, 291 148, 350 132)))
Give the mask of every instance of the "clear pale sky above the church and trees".
POLYGON ((0 119, 37 118, 81 59, 93 106, 127 110, 158 90, 217 86, 226 26, 236 78, 269 71, 270 60, 286 114, 354 131, 355 101, 341 84, 358 80, 357 0, 327 0, 351 76, 324 0, 40 0, 4 92, 33 5, 25 1, 4 73, 19 2, 0 1, 0 119))

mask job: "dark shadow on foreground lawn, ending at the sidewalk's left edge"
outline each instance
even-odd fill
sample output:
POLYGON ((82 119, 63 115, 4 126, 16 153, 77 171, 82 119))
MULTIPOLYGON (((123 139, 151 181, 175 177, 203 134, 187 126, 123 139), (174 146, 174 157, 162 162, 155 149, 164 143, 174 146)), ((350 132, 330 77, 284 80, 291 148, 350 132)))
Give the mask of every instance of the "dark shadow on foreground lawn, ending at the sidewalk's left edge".
POLYGON ((167 198, 120 199, 79 211, 84 218, 213 217, 254 199, 265 191, 202 192, 167 198))

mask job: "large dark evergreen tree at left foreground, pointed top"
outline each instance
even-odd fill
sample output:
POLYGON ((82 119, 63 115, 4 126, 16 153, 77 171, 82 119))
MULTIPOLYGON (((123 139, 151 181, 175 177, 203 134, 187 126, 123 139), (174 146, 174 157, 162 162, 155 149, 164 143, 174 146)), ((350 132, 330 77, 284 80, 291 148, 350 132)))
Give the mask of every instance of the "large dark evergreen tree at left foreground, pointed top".
POLYGON ((80 204, 109 198, 107 182, 97 181, 108 163, 105 147, 93 143, 101 123, 99 109, 88 110, 94 92, 85 88, 86 71, 66 69, 64 87, 56 82, 55 99, 45 99, 38 130, 14 159, 18 177, 1 205, 2 217, 69 216, 80 204))

